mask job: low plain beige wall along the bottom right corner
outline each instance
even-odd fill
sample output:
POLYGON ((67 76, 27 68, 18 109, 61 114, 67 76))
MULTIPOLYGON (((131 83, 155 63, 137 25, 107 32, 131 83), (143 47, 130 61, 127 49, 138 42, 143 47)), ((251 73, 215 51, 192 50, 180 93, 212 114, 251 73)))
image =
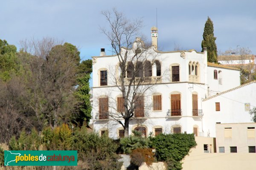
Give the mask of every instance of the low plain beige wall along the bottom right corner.
POLYGON ((205 143, 214 138, 195 137, 197 146, 183 159, 183 170, 255 170, 255 153, 204 153, 205 143))

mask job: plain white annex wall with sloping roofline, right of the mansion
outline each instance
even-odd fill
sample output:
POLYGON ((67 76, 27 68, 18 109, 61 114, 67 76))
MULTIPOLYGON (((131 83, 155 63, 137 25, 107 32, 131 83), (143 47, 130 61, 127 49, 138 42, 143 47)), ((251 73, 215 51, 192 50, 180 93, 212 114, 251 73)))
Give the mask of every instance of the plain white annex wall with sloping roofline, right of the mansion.
POLYGON ((245 111, 245 103, 250 103, 250 108, 256 106, 256 82, 242 85, 227 93, 213 96, 202 102, 203 128, 205 132, 215 137, 215 124, 252 122, 249 111, 245 111), (220 103, 220 111, 215 111, 215 102, 220 103))

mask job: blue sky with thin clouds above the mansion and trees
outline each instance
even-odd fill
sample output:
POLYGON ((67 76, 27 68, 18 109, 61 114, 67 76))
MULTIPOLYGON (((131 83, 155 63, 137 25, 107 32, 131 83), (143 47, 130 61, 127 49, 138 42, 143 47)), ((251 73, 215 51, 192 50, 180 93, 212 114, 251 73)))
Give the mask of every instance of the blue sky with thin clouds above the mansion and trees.
POLYGON ((102 10, 116 7, 126 17, 143 18, 141 32, 150 40, 150 28, 159 29, 158 46, 172 51, 201 51, 207 16, 214 24, 218 51, 248 47, 256 54, 255 0, 5 0, 0 5, 0 39, 19 48, 32 37, 55 37, 76 45, 82 59, 99 55, 109 42, 99 30, 107 26, 102 10))

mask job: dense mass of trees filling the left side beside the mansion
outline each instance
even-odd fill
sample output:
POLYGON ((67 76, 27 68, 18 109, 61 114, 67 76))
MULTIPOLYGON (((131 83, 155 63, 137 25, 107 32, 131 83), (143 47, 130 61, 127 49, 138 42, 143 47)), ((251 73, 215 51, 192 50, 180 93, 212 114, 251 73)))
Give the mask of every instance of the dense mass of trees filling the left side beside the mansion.
POLYGON ((0 143, 22 129, 88 123, 92 61, 80 63, 75 45, 52 38, 20 44, 17 52, 0 40, 0 143))

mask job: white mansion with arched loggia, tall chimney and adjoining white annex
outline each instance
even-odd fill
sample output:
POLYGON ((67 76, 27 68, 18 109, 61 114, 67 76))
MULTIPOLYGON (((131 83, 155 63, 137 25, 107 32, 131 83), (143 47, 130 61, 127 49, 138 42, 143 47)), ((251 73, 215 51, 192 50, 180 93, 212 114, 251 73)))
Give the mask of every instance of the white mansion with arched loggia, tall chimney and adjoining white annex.
MULTIPOLYGON (((142 67, 139 76, 147 80, 144 85, 154 85, 143 95, 141 101, 145 107, 134 114, 129 134, 140 130, 144 136, 194 133, 215 137, 216 123, 251 122, 248 111, 256 106, 255 82, 240 86, 240 71, 207 62, 207 49, 204 52, 158 51, 157 34, 157 28, 151 28, 152 46, 148 51, 152 57, 143 64, 149 66, 150 73, 142 67)), ((133 53, 132 48, 122 49, 133 53)), ((100 135, 107 132, 111 138, 122 137, 122 125, 103 114, 119 110, 112 109, 113 105, 120 105, 119 97, 122 97, 113 80, 119 74, 119 59, 116 55, 106 56, 103 48, 100 56, 92 58, 93 128, 100 135)), ((129 74, 126 74, 127 81, 129 74)))

